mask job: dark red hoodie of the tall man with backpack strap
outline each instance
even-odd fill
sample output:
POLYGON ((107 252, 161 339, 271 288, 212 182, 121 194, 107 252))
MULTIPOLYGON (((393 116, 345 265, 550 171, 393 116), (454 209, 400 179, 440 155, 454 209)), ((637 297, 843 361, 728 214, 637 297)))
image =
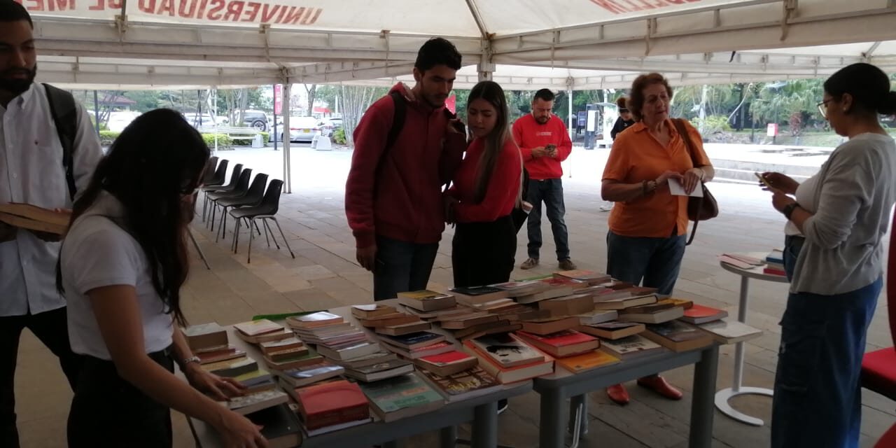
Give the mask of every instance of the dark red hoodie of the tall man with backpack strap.
MULTIPOLYGON (((399 82, 391 91, 409 98, 399 82)), ((389 95, 367 108, 355 129, 355 151, 345 185, 345 214, 358 247, 381 235, 416 244, 438 243, 444 230, 442 185, 461 163, 462 134, 447 133, 444 107, 408 101, 404 126, 377 166, 392 128, 395 103, 389 95)))

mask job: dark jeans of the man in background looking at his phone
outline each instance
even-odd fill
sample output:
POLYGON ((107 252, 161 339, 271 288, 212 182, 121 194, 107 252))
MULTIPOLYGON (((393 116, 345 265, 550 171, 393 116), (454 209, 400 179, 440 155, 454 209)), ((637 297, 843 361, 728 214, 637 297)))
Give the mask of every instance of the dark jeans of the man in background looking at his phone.
POLYGON ((541 202, 547 207, 547 220, 551 221, 557 260, 569 258, 569 233, 563 220, 566 206, 563 202, 563 181, 561 179, 530 180, 527 202, 532 204, 529 212, 529 257, 538 258, 541 250, 541 202))

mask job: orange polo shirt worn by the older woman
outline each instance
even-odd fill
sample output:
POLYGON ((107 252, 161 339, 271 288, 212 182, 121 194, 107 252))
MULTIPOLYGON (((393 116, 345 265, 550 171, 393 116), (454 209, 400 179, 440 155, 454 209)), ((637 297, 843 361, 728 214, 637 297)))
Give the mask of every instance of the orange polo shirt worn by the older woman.
MULTIPOLYGON (((610 151, 603 179, 625 184, 654 180, 667 170, 684 174, 694 163, 687 145, 678 135, 675 125, 666 120, 672 135, 668 146, 659 144, 642 122, 635 123, 616 135, 610 151)), ((691 141, 697 149, 697 167, 711 165, 703 151, 700 133, 685 121, 691 141)), ((687 231, 687 196, 673 196, 668 188, 659 188, 653 194, 640 196, 629 202, 616 202, 610 212, 609 228, 624 237, 670 237, 684 235, 687 231)))

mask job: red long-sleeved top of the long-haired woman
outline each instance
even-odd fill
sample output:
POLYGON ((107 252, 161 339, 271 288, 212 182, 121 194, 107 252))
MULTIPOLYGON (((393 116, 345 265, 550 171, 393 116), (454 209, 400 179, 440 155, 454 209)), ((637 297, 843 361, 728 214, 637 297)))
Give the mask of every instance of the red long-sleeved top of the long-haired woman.
POLYGON ((504 148, 495 160, 495 172, 488 179, 485 198, 482 202, 474 203, 479 158, 485 149, 485 141, 481 138, 470 142, 467 155, 464 156, 461 168, 458 168, 454 175, 454 183, 448 190, 448 194, 460 201, 454 204, 455 218, 458 222, 491 222, 509 215, 516 205, 516 198, 520 193, 522 165, 520 150, 510 139, 504 142, 504 148))

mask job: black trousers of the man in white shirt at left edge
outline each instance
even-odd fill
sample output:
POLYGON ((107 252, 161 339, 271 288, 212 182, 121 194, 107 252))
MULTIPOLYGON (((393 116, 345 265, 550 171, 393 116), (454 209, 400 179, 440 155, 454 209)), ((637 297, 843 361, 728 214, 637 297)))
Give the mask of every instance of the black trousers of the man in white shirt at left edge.
POLYGON ((80 359, 68 343, 65 306, 39 314, 0 317, 0 446, 18 447, 19 432, 15 427, 15 366, 19 355, 22 329, 28 328, 50 349, 74 388, 80 359))

